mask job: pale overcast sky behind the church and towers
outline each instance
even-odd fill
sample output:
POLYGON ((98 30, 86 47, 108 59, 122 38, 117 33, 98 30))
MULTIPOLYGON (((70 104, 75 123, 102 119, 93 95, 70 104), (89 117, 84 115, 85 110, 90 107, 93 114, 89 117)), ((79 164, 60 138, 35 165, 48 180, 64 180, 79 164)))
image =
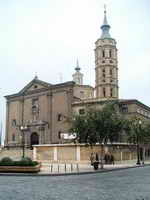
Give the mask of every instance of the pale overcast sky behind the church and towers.
POLYGON ((117 41, 119 96, 150 106, 149 0, 0 0, 0 119, 3 96, 19 92, 37 73, 55 84, 72 80, 76 59, 94 86, 95 41, 104 4, 117 41))

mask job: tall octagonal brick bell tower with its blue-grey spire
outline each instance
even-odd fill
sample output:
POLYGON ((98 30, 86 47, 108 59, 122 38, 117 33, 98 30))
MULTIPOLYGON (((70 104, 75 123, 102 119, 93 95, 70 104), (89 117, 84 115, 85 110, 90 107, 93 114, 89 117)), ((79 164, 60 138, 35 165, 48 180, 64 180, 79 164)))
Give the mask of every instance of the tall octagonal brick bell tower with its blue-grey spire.
POLYGON ((101 37, 95 42, 95 90, 101 100, 118 99, 118 60, 116 41, 110 36, 106 7, 101 37))

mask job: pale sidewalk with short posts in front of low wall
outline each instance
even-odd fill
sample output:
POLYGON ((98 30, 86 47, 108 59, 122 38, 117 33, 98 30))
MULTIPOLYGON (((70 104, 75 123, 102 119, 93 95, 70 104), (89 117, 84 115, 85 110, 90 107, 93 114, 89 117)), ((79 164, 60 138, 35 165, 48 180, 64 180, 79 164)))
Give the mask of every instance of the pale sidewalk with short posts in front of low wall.
POLYGON ((75 175, 75 174, 89 174, 89 173, 100 173, 108 171, 116 171, 121 169, 144 167, 150 165, 150 160, 145 161, 144 165, 136 165, 136 160, 124 161, 122 163, 116 162, 114 165, 104 165, 104 169, 94 170, 90 164, 76 164, 76 163, 48 163, 42 162, 41 171, 39 175, 75 175))

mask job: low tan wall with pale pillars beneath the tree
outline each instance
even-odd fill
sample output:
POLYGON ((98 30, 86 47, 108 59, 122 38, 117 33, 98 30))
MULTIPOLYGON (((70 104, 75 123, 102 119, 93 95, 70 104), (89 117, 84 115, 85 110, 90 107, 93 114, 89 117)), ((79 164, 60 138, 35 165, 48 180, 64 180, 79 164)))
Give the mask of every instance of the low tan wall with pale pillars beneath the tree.
MULTIPOLYGON (((51 144, 34 145, 33 159, 50 162, 89 162, 92 152, 101 155, 102 146, 85 144, 51 144)), ((104 153, 113 154, 115 161, 136 159, 136 146, 127 144, 109 144, 104 153)))

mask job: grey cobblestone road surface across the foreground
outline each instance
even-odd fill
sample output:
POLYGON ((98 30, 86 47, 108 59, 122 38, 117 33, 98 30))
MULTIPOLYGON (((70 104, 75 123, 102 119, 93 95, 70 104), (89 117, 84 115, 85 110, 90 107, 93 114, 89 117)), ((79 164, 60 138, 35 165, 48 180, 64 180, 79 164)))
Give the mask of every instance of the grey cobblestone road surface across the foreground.
POLYGON ((1 176, 0 200, 150 200, 150 167, 78 176, 1 176))

